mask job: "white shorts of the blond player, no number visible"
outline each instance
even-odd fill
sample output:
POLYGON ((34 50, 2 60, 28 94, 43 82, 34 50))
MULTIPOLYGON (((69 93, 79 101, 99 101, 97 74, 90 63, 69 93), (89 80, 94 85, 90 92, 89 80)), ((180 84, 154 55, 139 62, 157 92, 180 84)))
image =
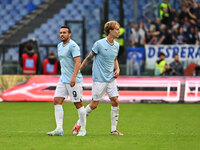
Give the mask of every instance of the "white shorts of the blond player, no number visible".
POLYGON ((111 82, 93 82, 92 83, 92 99, 99 101, 104 99, 105 93, 109 98, 119 96, 116 80, 111 82))

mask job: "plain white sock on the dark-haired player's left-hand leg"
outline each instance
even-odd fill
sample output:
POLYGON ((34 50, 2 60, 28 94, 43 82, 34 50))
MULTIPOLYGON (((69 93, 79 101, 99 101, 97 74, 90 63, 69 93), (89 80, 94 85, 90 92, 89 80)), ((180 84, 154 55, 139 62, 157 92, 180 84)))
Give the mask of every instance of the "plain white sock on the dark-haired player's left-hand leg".
POLYGON ((62 105, 54 105, 55 109, 55 118, 56 118, 56 125, 57 130, 63 130, 63 107, 62 105))

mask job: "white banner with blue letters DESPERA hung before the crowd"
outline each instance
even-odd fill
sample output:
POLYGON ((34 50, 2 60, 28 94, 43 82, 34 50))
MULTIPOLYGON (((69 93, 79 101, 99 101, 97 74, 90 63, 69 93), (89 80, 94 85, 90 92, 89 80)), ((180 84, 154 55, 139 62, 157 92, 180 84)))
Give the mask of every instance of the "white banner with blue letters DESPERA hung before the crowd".
POLYGON ((146 69, 154 69, 159 53, 165 53, 165 60, 169 64, 173 61, 174 54, 178 54, 184 68, 190 63, 200 64, 199 45, 145 45, 146 69))

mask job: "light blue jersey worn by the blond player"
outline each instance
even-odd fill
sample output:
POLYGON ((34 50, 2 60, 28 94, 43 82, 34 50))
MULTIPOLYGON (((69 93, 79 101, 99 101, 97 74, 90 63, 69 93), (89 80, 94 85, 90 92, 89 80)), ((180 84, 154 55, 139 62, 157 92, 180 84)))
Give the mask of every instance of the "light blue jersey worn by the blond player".
POLYGON ((92 51, 94 57, 92 78, 96 82, 110 82, 114 78, 114 61, 119 52, 119 44, 114 41, 110 44, 107 38, 103 38, 94 43, 92 51))

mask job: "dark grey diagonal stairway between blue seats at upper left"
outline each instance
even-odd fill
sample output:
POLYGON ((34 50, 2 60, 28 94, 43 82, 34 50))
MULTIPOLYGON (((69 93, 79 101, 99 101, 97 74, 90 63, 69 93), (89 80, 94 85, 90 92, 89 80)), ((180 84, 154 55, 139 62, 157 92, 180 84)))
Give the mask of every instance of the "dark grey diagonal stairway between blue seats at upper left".
MULTIPOLYGON (((31 2, 30 0, 28 1, 31 2)), ((33 32, 34 29, 39 27, 42 23, 45 23, 48 18, 51 18, 55 13, 58 13, 59 10, 69 2, 71 2, 71 0, 60 0, 59 3, 57 3, 56 0, 43 1, 35 8, 35 10, 31 11, 16 25, 12 26, 8 31, 1 35, 0 44, 18 44, 20 39, 26 37, 28 33, 33 32)))

